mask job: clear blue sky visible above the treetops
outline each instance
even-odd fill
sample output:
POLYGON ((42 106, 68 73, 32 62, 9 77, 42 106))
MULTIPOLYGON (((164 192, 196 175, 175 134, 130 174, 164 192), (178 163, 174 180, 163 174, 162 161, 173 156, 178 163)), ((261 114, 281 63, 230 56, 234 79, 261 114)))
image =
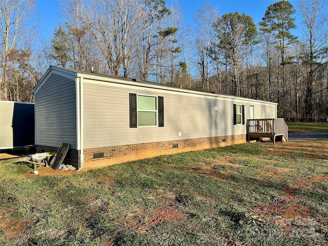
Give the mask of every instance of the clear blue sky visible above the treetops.
MULTIPOLYGON (((96 0, 91 0, 96 1, 96 0)), ((278 0, 277 0, 278 1, 278 0)), ((193 16, 197 9, 200 9, 201 6, 205 3, 210 3, 215 6, 219 12, 219 15, 223 15, 231 12, 245 13, 253 17, 254 22, 257 24, 260 22, 264 16, 265 10, 270 4, 273 4, 277 1, 271 0, 178 0, 178 1, 169 1, 167 0, 167 6, 170 6, 172 3, 178 3, 179 8, 185 17, 187 24, 193 23, 193 16)), ((292 0, 290 3, 296 8, 296 1, 292 0)), ((54 29, 60 23, 60 8, 58 0, 36 0, 37 10, 36 14, 39 19, 38 29, 40 34, 45 39, 51 39, 54 29)), ((296 16, 296 25, 299 26, 299 17, 296 16)), ((293 32, 294 35, 297 35, 297 31, 293 32)))

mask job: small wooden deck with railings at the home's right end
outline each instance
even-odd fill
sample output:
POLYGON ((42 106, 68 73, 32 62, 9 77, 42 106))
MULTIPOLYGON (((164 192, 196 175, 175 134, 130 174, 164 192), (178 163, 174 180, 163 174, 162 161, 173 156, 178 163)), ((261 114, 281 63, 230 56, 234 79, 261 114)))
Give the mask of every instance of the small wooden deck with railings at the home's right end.
POLYGON ((273 144, 276 140, 288 141, 288 126, 283 118, 273 119, 248 119, 247 120, 247 141, 270 138, 273 144))

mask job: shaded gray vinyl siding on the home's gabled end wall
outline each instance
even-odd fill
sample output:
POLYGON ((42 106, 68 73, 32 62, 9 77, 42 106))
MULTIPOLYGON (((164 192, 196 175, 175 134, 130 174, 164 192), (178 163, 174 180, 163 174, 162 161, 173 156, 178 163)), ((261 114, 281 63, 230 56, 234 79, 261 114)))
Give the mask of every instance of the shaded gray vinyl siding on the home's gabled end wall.
POLYGON ((35 94, 36 145, 76 149, 75 81, 52 74, 35 94))

